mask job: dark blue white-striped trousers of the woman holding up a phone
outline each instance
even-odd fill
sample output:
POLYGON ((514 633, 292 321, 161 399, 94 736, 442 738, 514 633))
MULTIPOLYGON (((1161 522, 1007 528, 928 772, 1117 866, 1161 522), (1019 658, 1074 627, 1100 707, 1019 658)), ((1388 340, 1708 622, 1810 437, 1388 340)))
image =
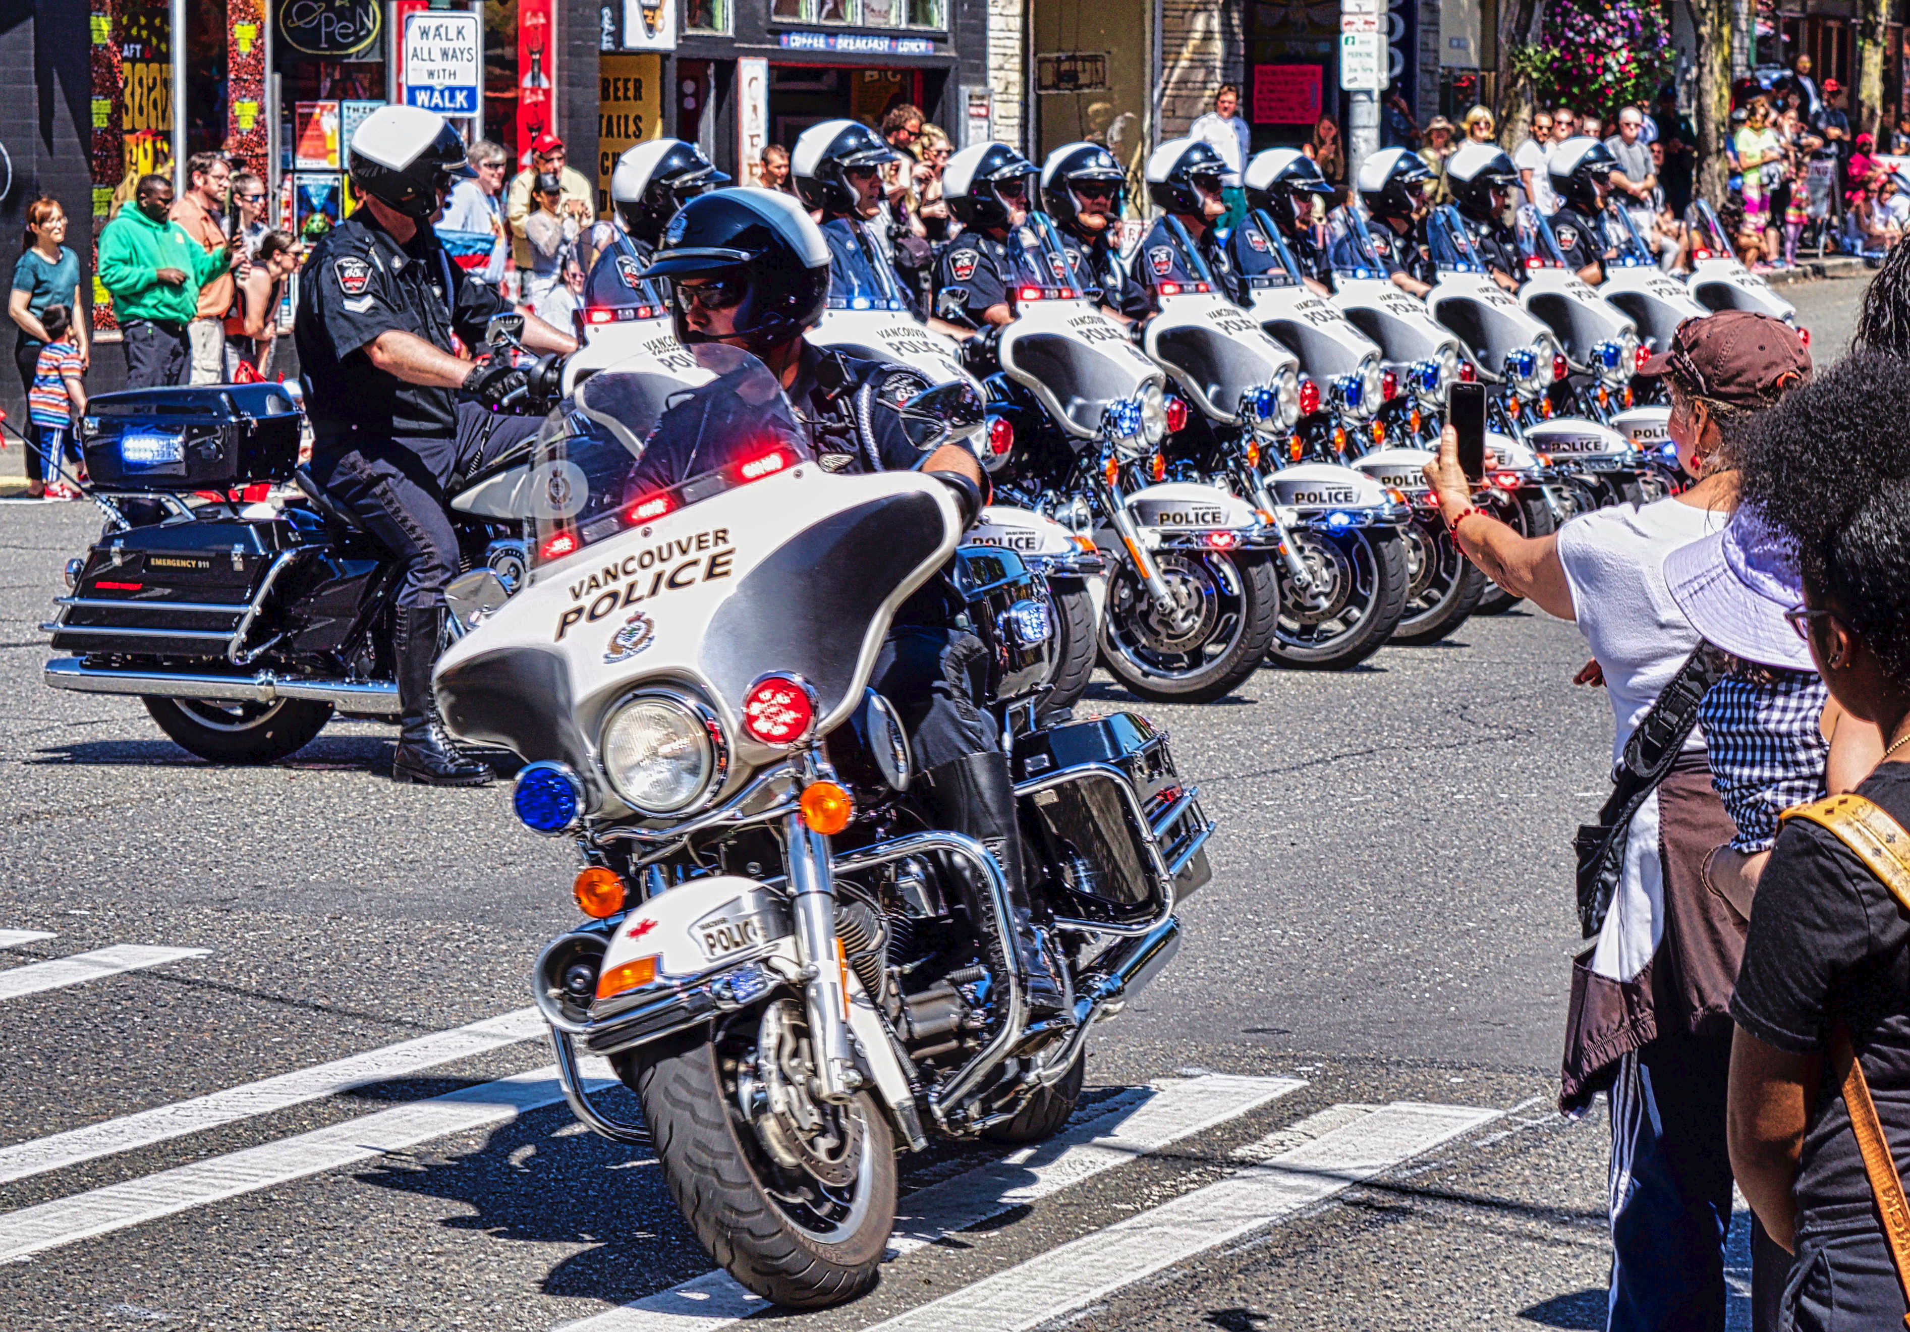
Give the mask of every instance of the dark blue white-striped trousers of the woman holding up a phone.
POLYGON ((1729 1036, 1662 1036, 1612 1084, 1610 1332, 1723 1332, 1729 1036))

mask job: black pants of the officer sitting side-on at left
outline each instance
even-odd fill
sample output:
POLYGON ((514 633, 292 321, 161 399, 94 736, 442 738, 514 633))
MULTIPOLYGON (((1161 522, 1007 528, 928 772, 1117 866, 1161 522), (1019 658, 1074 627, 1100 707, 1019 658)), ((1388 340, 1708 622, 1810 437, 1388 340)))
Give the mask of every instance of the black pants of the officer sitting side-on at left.
MULTIPOLYGON (((470 476, 535 436, 542 417, 502 417, 476 403, 458 407, 456 474, 470 476)), ((443 482, 405 447, 346 449, 313 459, 313 476, 350 508, 372 537, 405 566, 397 606, 432 608, 445 600, 445 583, 458 571, 458 535, 447 512, 443 482)))

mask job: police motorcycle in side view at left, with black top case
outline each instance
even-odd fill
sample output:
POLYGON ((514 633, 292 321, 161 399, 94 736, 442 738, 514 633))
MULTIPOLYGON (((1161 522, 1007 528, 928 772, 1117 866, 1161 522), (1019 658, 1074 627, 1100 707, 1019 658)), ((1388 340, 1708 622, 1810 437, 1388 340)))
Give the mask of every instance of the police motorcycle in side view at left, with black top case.
MULTIPOLYGON (((521 350, 521 315, 489 327, 493 355, 521 350)), ((535 361, 516 409, 556 399, 560 359, 535 361)), ((298 466, 304 413, 283 384, 99 394, 80 420, 99 539, 67 560, 69 594, 42 631, 57 690, 130 694, 180 747, 210 763, 273 763, 334 713, 397 720, 392 617, 401 568, 298 466), (286 501, 243 487, 292 482, 286 501)), ((468 568, 504 594, 523 585, 529 441, 453 478, 468 568)), ((447 627, 455 634, 456 625, 447 627)))

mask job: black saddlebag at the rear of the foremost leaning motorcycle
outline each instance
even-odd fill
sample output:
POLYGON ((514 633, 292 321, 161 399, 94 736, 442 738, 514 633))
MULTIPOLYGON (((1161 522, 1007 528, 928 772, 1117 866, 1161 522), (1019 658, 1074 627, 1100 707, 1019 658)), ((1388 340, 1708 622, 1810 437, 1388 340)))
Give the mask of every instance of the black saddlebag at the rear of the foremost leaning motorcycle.
POLYGON ((1157 910, 1157 879, 1146 850, 1150 833, 1173 877, 1177 902, 1213 877, 1205 852, 1213 824, 1177 776, 1167 736, 1148 719, 1114 713, 1020 736, 1014 776, 1024 787, 1047 787, 1024 793, 1020 805, 1081 919, 1135 925, 1157 910), (1106 774, 1083 764, 1121 772, 1140 797, 1148 827, 1138 826, 1133 806, 1106 774), (1049 785, 1068 770, 1079 776, 1049 785))

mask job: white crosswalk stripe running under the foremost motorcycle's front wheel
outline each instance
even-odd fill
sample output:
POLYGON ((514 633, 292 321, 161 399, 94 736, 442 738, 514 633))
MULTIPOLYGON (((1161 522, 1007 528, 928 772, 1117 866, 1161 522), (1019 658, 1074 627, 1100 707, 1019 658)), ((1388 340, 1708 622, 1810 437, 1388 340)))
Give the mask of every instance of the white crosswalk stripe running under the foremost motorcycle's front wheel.
MULTIPOLYGON (((1112 1110, 1047 1143, 1024 1147, 903 1198, 890 1254, 919 1250, 951 1231, 1157 1152, 1305 1085, 1299 1078, 1207 1074, 1165 1082, 1154 1091, 1127 1093, 1112 1110)), ((768 1307, 766 1300, 745 1290, 730 1273, 714 1271, 621 1309, 563 1324, 563 1332, 711 1332, 768 1307)))

